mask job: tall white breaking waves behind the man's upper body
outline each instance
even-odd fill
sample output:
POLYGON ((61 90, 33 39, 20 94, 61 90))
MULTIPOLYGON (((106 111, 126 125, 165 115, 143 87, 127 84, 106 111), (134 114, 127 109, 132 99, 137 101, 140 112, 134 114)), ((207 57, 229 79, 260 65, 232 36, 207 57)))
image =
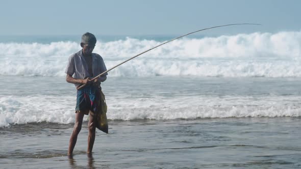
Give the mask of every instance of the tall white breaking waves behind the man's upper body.
MULTIPOLYGON (((94 52, 109 69, 162 42, 127 38, 97 43, 94 52)), ((65 76, 69 55, 80 48, 75 42, 0 43, 0 75, 65 76)), ((301 77, 301 32, 183 38, 144 53, 110 75, 301 77)))

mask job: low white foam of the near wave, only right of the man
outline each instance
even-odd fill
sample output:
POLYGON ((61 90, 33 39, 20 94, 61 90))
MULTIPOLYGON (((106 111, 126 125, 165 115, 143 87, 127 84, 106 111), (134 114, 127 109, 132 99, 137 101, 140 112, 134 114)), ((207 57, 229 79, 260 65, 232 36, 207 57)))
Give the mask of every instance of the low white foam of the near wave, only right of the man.
POLYGON ((229 117, 298 117, 299 96, 292 97, 181 97, 108 100, 112 120, 196 119, 229 117), (130 103, 129 103, 130 102, 130 103), (131 104, 132 103, 132 104, 131 104))

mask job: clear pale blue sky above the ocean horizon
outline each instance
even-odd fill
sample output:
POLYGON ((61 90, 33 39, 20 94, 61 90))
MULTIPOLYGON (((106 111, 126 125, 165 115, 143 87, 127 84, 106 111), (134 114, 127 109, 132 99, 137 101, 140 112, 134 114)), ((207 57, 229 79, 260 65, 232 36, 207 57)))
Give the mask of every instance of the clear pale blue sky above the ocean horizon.
POLYGON ((0 7, 0 35, 202 35, 300 31, 299 0, 10 0, 0 7))

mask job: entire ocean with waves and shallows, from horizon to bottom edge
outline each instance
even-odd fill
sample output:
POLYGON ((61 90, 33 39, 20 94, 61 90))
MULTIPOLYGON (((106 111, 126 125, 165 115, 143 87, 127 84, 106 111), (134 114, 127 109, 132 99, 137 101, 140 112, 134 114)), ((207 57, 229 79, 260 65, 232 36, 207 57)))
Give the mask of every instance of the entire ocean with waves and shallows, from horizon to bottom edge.
MULTIPOLYGON (((188 36, 109 72, 67 157, 81 36, 0 37, 0 168, 301 168, 301 32, 188 36)), ((107 68, 175 37, 96 36, 107 68)))

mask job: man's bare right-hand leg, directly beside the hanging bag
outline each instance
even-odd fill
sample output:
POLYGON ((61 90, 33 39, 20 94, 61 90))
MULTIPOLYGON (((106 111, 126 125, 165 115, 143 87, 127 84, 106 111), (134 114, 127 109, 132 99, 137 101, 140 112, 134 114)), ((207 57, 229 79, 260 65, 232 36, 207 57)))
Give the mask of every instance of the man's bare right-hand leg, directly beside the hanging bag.
POLYGON ((88 149, 87 153, 90 154, 92 153, 93 145, 94 145, 94 140, 95 140, 95 130, 96 130, 96 118, 92 113, 90 112, 89 114, 89 124, 88 124, 88 129, 89 129, 89 135, 88 135, 88 149))

